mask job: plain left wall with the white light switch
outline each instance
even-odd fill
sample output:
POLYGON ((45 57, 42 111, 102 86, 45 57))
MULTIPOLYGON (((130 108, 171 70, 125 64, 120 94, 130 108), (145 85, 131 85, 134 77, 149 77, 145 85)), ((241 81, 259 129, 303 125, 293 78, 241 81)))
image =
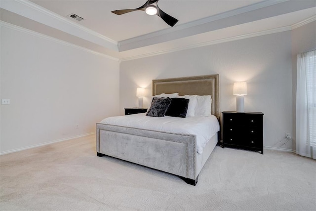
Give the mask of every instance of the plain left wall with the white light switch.
POLYGON ((1 26, 0 41, 0 98, 11 100, 0 153, 94 133, 118 115, 118 60, 14 26, 1 26))

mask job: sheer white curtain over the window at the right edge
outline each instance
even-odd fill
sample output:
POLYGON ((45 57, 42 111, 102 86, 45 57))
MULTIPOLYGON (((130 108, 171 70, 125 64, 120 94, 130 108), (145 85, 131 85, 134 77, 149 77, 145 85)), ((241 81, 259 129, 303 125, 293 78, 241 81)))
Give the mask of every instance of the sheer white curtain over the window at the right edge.
POLYGON ((316 50, 297 56, 296 153, 316 159, 316 50))

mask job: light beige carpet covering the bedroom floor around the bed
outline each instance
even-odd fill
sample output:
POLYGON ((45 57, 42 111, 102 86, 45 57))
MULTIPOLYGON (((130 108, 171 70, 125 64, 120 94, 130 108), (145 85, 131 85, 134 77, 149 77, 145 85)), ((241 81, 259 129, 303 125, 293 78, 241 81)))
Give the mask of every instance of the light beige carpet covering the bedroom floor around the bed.
POLYGON ((0 210, 316 210, 316 161, 216 147, 197 186, 97 157, 95 136, 0 156, 0 210))

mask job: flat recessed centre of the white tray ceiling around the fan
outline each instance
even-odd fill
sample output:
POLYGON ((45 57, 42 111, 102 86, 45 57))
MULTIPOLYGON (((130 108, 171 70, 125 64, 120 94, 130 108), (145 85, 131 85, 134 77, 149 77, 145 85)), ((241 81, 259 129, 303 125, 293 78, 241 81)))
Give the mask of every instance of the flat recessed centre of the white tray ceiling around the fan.
MULTIPOLYGON (((170 26, 157 15, 149 16, 143 11, 124 15, 111 13, 117 9, 131 9, 143 5, 146 0, 31 0, 63 17, 74 12, 85 20, 80 22, 97 33, 112 40, 122 41, 170 26)), ((158 6, 177 18, 176 26, 247 6, 261 0, 159 0, 158 6)))

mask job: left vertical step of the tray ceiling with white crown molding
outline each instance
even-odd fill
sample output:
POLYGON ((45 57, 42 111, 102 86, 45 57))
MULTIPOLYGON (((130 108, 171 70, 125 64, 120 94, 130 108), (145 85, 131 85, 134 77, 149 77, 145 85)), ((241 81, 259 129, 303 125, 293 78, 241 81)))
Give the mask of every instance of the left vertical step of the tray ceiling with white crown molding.
POLYGON ((1 0, 0 7, 49 27, 118 51, 118 42, 58 15, 29 0, 1 0))

